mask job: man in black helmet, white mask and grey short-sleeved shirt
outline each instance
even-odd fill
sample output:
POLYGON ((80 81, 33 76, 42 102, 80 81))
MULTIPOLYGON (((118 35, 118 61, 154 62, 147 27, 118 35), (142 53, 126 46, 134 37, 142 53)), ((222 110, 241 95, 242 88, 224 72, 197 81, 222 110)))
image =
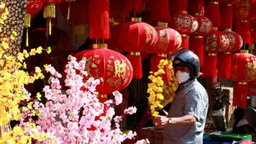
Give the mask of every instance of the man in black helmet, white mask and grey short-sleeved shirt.
POLYGON ((164 144, 202 144, 208 110, 208 94, 196 80, 200 73, 198 56, 181 48, 174 52, 173 68, 179 87, 168 116, 157 116, 154 124, 164 127, 164 144))

